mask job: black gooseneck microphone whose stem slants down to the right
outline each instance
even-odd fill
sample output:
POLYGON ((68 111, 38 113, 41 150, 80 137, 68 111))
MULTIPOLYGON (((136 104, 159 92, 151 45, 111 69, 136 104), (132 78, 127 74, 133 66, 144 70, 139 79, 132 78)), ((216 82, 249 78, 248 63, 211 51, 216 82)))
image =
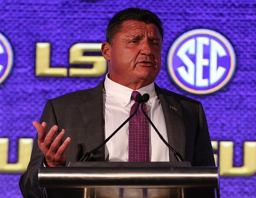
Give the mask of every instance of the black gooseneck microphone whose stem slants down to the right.
POLYGON ((159 131, 157 130, 156 126, 153 124, 153 122, 150 120, 150 118, 148 117, 148 115, 145 113, 145 111, 143 110, 143 105, 148 102, 149 100, 149 95, 148 94, 143 94, 142 96, 142 103, 141 103, 141 110, 142 113, 144 114, 144 116, 147 118, 148 122, 151 124, 151 126, 153 126, 153 128, 155 129, 156 133, 158 134, 158 136, 160 137, 160 139, 164 142, 164 144, 174 153, 174 156, 176 158, 176 160, 178 162, 184 162, 185 160, 183 159, 183 157, 180 155, 180 153, 178 151, 176 151, 175 149, 172 148, 172 146, 170 144, 167 143, 167 141, 164 140, 163 136, 159 133, 159 131))

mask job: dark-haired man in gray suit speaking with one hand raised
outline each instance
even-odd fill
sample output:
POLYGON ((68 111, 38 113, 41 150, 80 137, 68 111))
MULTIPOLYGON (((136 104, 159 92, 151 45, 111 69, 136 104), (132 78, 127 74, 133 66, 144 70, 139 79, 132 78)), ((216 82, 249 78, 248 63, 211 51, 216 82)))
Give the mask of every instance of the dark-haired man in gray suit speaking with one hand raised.
MULTIPOLYGON (((161 20, 148 10, 128 8, 111 19, 101 48, 108 61, 106 79, 95 88, 47 101, 41 124, 33 122, 37 136, 28 169, 20 178, 23 196, 42 196, 40 166, 78 161, 123 123, 135 103, 131 100, 134 90, 150 95, 148 116, 186 161, 193 166, 215 166, 201 103, 154 83, 161 68, 163 36, 161 20)), ((151 127, 149 160, 176 161, 151 127)), ((127 123, 90 161, 128 161, 128 128, 127 123)))

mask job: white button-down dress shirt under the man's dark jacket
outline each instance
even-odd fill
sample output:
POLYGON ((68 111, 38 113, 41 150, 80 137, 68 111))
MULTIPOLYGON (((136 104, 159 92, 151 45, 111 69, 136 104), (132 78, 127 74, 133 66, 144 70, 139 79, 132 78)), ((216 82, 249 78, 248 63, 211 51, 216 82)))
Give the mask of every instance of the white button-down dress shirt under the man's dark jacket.
MULTIPOLYGON (((103 112, 105 118, 105 139, 109 137, 129 116, 134 101, 131 101, 132 89, 120 85, 108 78, 103 89, 103 112)), ((154 83, 136 90, 141 95, 148 93, 146 103, 148 117, 168 142, 163 110, 155 91, 154 83)), ((105 145, 105 156, 109 161, 128 161, 128 126, 127 122, 105 145)), ((169 150, 149 123, 149 160, 168 162, 169 150)))

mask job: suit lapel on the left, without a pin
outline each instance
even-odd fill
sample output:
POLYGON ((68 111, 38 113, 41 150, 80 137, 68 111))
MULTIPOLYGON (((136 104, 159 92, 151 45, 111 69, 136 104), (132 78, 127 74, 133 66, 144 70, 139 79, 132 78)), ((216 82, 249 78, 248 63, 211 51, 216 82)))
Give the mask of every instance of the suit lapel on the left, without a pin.
MULTIPOLYGON (((105 140, 102 92, 104 80, 95 88, 88 90, 88 93, 83 96, 86 102, 78 107, 90 145, 90 148, 86 148, 86 152, 96 148, 105 140)), ((95 161, 105 161, 105 147, 102 146, 93 153, 93 158, 95 161)))

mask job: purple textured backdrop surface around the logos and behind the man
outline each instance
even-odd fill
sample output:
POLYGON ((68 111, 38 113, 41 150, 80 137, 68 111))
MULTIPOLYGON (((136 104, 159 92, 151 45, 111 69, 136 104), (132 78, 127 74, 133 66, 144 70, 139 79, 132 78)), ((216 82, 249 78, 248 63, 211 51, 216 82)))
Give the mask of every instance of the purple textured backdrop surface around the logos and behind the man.
MULTIPOLYGON (((47 99, 94 87, 99 78, 35 76, 36 42, 51 43, 51 66, 69 67, 69 48, 79 42, 105 41, 108 21, 119 10, 139 6, 164 23, 162 70, 156 83, 202 102, 212 140, 234 142, 234 165, 243 165, 243 142, 256 141, 255 0, 6 0, 0 2, 0 32, 12 45, 13 70, 0 88, 0 138, 7 137, 9 163, 17 161, 17 142, 34 138, 47 99), (176 38, 191 29, 224 35, 236 52, 237 68, 228 86, 210 95, 189 95, 171 82, 167 53, 176 38)), ((0 173, 0 197, 21 197, 20 174, 0 173)), ((220 177, 221 197, 254 197, 256 175, 220 177)))

